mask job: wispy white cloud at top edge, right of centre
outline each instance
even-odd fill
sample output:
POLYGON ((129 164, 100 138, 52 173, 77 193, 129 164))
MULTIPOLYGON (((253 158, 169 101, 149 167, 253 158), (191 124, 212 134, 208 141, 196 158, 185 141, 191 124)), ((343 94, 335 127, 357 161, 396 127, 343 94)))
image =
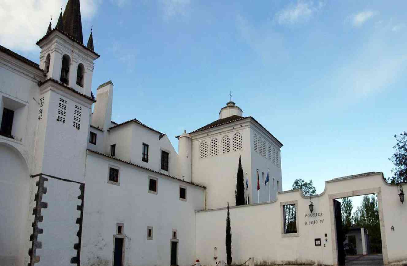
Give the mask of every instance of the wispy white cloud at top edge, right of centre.
POLYGON ((314 5, 312 1, 298 1, 297 4, 290 4, 285 9, 275 15, 279 24, 296 24, 308 21, 315 12, 322 9, 323 2, 314 5))

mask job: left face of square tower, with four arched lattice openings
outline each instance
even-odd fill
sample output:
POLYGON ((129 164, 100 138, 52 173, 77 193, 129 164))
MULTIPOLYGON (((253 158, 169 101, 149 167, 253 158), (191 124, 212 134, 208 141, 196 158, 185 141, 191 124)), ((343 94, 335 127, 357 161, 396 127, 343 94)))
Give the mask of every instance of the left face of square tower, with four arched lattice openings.
MULTIPOLYGON (((205 185, 206 208, 213 209, 224 207, 228 201, 230 205, 236 204, 236 174, 239 166, 239 155, 241 155, 244 184, 246 188, 246 172, 249 174, 249 191, 252 182, 250 179, 250 129, 249 122, 240 122, 218 126, 202 132, 191 134, 192 137, 192 182, 205 185), (233 150, 233 135, 240 133, 243 137, 243 149, 233 150), (227 135, 230 140, 230 152, 222 153, 222 138, 227 135), (211 140, 217 138, 218 155, 211 156, 211 140), (206 141, 208 145, 208 157, 199 157, 199 145, 206 141)), ((250 201, 252 196, 250 195, 250 201)))

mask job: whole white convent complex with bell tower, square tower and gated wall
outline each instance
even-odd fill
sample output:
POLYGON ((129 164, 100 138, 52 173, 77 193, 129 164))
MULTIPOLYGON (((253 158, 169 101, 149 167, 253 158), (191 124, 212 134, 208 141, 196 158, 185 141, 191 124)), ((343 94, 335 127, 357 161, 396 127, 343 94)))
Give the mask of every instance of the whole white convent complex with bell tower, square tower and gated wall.
POLYGON ((326 181, 311 211, 282 191, 282 143, 232 101, 177 136, 178 153, 137 119, 113 122, 112 81, 91 92, 99 55, 79 0, 37 45, 39 64, 0 46, 0 265, 217 265, 228 202, 234 264, 342 265, 335 198, 371 193, 384 263, 407 259, 407 206, 381 172, 326 181), (234 207, 239 156, 247 204, 234 207))

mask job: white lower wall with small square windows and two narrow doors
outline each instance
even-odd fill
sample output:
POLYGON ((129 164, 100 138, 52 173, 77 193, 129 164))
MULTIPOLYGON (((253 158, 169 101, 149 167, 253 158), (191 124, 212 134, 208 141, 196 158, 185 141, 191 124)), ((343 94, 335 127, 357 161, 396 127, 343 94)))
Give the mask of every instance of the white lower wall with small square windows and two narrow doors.
POLYGON ((195 262, 195 210, 204 208, 204 189, 88 152, 81 265, 112 265, 116 223, 124 224, 125 265, 169 265, 172 229, 179 239, 178 264, 195 262), (120 169, 120 185, 107 183, 109 165, 120 169), (149 176, 158 193, 148 192, 149 176), (179 200, 179 186, 187 201, 179 200), (147 226, 153 240, 147 240, 147 226))

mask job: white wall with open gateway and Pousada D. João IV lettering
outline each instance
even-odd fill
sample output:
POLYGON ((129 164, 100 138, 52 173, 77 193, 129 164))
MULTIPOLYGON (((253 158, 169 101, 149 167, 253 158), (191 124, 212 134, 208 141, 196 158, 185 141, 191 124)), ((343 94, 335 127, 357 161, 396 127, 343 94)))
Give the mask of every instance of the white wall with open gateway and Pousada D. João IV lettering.
MULTIPOLYGON (((231 207, 233 263, 240 264, 255 257, 256 264, 337 265, 333 199, 372 193, 377 193, 378 197, 384 263, 407 259, 403 245, 407 239, 404 230, 407 205, 400 203, 397 186, 387 184, 381 172, 370 172, 327 181, 324 192, 312 198, 312 214, 310 199, 298 190, 280 192, 274 202, 231 207), (283 232, 282 205, 285 204, 296 205, 297 233, 283 232), (316 246, 315 239, 319 238, 321 245, 316 246)), ((196 212, 196 257, 202 265, 215 265, 226 259, 226 212, 226 208, 196 212)))

